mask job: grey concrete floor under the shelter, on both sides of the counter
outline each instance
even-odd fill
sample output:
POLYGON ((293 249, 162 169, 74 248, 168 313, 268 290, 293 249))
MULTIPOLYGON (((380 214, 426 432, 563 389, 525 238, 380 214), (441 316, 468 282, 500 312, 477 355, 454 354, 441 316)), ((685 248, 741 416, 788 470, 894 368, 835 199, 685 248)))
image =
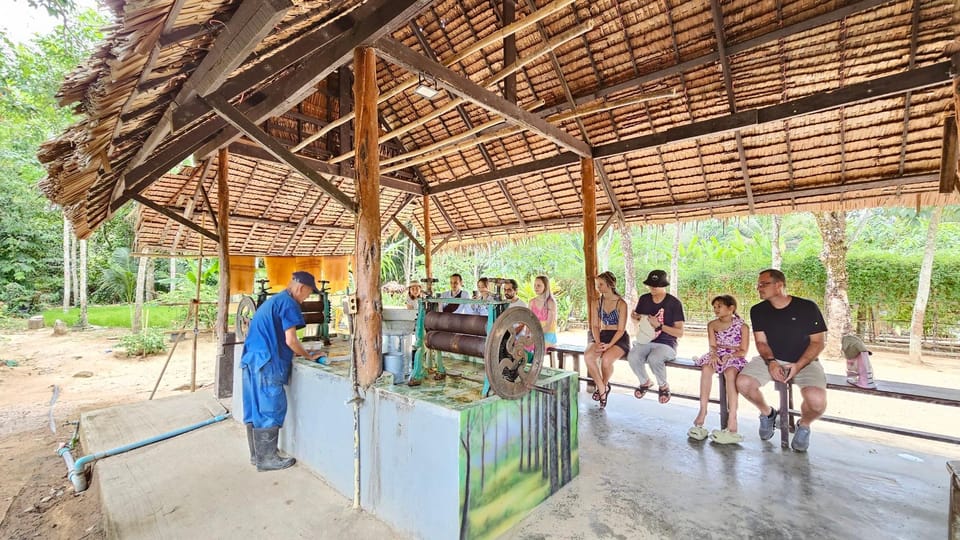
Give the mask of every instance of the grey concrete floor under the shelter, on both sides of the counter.
MULTIPOLYGON (((746 408, 746 440, 722 446, 686 438, 696 412, 690 402, 661 406, 614 394, 600 411, 588 395, 581 400, 580 476, 505 538, 946 536, 944 463, 960 448, 879 444, 848 428, 815 425, 810 451, 798 454, 781 450, 778 440, 760 441, 746 408)), ((191 414, 209 417, 216 408, 208 395, 194 394, 101 411, 84 418, 92 445, 85 452, 182 426, 191 414)), ((708 428, 717 427, 716 418, 712 413, 708 428)), ((247 460, 243 428, 228 420, 98 462, 93 481, 109 536, 400 538, 350 510, 348 499, 305 467, 256 473, 247 460)))

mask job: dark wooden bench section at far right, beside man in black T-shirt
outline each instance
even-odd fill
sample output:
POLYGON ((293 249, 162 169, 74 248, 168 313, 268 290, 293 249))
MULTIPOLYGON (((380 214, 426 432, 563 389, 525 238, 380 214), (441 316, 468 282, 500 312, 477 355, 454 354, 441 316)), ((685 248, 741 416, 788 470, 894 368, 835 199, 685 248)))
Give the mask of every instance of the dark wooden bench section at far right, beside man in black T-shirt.
MULTIPOLYGON (((874 381, 877 385, 876 390, 860 388, 847 382, 843 375, 827 374, 827 390, 839 392, 854 392, 857 394, 866 394, 871 396, 880 396, 885 398, 903 399, 908 401, 918 401, 921 403, 933 403, 935 405, 946 405, 949 407, 960 407, 960 390, 950 388, 940 388, 937 386, 926 386, 922 384, 910 384, 894 381, 874 381)), ((790 431, 796 428, 794 419, 800 416, 800 411, 793 408, 793 384, 786 385, 774 383, 780 394, 780 446, 786 448, 789 445, 790 431)), ((820 420, 843 424, 847 426, 861 427, 893 433, 896 435, 906 435, 908 437, 917 437, 930 441, 947 442, 960 444, 960 438, 937 433, 927 433, 924 431, 915 431, 911 429, 896 428, 885 426, 883 424, 874 424, 861 420, 849 420, 836 416, 821 416, 820 420)))

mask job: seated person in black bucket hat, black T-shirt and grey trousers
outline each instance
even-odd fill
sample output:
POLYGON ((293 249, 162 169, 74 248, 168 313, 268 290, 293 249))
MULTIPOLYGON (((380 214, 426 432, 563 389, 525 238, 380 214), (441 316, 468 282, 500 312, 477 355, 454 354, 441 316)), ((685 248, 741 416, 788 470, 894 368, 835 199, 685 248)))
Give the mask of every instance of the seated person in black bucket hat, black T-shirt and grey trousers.
POLYGON ((649 343, 635 342, 627 355, 627 361, 640 381, 633 395, 640 399, 653 386, 650 376, 647 375, 646 365, 649 364, 659 385, 657 394, 660 396, 660 403, 666 403, 670 401, 666 363, 677 357, 677 338, 683 337, 683 304, 676 296, 667 292, 670 282, 663 270, 650 272, 643 284, 650 292, 640 297, 630 316, 635 321, 645 317, 654 332, 649 343))

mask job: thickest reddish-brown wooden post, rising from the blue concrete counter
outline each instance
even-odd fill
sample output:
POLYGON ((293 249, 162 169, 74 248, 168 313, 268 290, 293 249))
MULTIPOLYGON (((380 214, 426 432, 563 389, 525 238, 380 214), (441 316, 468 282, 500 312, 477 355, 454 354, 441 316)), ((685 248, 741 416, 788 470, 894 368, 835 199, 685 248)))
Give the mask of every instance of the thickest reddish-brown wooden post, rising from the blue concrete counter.
POLYGON ((383 371, 380 299, 380 162, 377 117, 377 60, 373 49, 353 51, 353 102, 357 169, 357 314, 353 358, 359 384, 368 388, 383 371))

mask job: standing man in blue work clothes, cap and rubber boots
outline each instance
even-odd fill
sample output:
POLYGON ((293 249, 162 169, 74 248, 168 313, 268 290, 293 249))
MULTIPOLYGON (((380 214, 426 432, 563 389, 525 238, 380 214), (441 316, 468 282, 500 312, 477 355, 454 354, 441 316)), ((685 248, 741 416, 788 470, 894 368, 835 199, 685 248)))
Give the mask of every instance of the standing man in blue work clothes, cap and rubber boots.
POLYGON ((287 415, 283 386, 290 380, 293 355, 315 360, 320 352, 308 352, 297 338, 306 326, 300 304, 319 294, 309 272, 294 272, 290 284, 263 303, 250 320, 243 343, 243 423, 247 426, 250 463, 258 471, 286 469, 296 459, 277 455, 280 427, 287 415))

